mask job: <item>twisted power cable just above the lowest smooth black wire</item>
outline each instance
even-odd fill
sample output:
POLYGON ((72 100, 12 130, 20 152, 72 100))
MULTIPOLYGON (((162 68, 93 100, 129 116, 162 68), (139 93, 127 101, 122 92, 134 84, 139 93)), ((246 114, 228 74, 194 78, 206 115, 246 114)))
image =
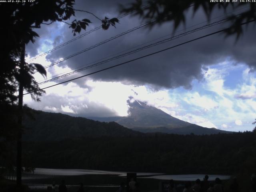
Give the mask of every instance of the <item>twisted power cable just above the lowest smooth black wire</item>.
POLYGON ((157 45, 160 45, 160 44, 169 42, 169 41, 171 41, 171 40, 180 38, 180 37, 182 37, 182 36, 186 36, 186 35, 188 35, 188 34, 197 32, 197 31, 199 31, 199 30, 203 30, 203 29, 205 29, 205 28, 208 28, 208 27, 212 27, 212 26, 221 24, 221 23, 223 23, 223 22, 226 22, 226 20, 227 20, 227 18, 222 19, 222 20, 217 21, 217 22, 213 22, 213 23, 211 23, 211 24, 204 25, 204 26, 199 27, 199 28, 196 28, 196 29, 194 29, 194 30, 190 30, 190 31, 188 31, 188 32, 184 32, 184 33, 182 33, 182 34, 178 34, 178 35, 176 35, 176 36, 172 36, 172 37, 170 37, 170 38, 166 38, 166 39, 164 39, 164 40, 161 40, 161 41, 158 41, 158 42, 149 44, 149 45, 147 45, 147 46, 143 46, 143 47, 141 47, 141 48, 132 50, 132 51, 130 51, 130 52, 126 52, 126 53, 124 53, 124 54, 121 54, 121 55, 118 55, 118 56, 109 58, 109 59, 107 59, 107 60, 103 60, 103 61, 97 62, 97 63, 95 63, 95 64, 92 64, 92 65, 83 67, 83 68, 78 69, 78 70, 74 70, 74 71, 72 71, 72 72, 63 74, 63 75, 61 75, 61 76, 57 76, 57 77, 55 77, 55 78, 51 78, 51 79, 45 80, 45 81, 43 81, 43 82, 39 82, 38 85, 45 84, 45 83, 47 83, 47 82, 50 82, 50 81, 53 81, 53 80, 57 80, 57 79, 59 79, 59 78, 63 78, 63 77, 69 76, 69 75, 71 75, 71 74, 80 72, 80 71, 82 71, 82 70, 86 70, 86 69, 88 69, 88 68, 92 68, 92 67, 95 67, 95 66, 104 64, 104 63, 106 63, 106 62, 110 62, 110 61, 112 61, 112 60, 116 60, 116 59, 118 59, 118 58, 122 58, 122 57, 128 56, 128 55, 130 55, 130 54, 134 54, 134 53, 136 53, 136 52, 145 50, 145 49, 147 49, 147 48, 150 48, 150 47, 153 47, 153 46, 157 46, 157 45))

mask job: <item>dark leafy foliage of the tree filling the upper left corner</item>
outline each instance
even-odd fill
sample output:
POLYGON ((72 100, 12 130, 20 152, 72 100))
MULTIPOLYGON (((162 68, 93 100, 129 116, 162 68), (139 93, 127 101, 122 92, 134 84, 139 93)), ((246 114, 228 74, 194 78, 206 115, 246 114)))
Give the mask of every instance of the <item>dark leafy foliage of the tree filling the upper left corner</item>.
MULTIPOLYGON (((0 2, 0 102, 14 104, 17 100, 15 94, 18 84, 22 80, 24 89, 28 92, 38 90, 38 85, 31 75, 35 70, 46 75, 39 64, 25 64, 24 73, 20 75, 20 56, 22 44, 35 42, 39 37, 35 28, 42 24, 53 22, 65 22, 70 25, 73 34, 79 33, 91 22, 88 19, 74 20, 70 24, 66 22, 71 16, 75 16, 73 8, 74 0, 38 0, 34 3, 6 3, 0 2), (47 11, 46 11, 47 10, 47 11)), ((81 10, 79 10, 81 11, 81 10)), ((115 26, 117 18, 102 19, 102 29, 106 30, 110 25, 115 26)), ((38 90, 31 94, 34 100, 39 101, 43 93, 38 90)))

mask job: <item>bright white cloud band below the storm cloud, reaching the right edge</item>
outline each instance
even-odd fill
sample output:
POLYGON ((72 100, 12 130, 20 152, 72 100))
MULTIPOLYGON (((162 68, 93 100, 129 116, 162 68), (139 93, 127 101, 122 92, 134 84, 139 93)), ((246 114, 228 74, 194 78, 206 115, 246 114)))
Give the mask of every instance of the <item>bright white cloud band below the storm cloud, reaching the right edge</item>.
MULTIPOLYGON (((42 57, 43 58, 43 57, 42 57)), ((45 62, 48 65, 49 62, 45 62)), ((48 74, 55 75, 70 68, 54 66, 48 74)), ((244 81, 230 90, 223 84, 228 76, 228 68, 209 68, 205 81, 192 90, 152 90, 148 86, 135 86, 121 82, 101 82, 84 80, 80 87, 76 82, 46 89, 42 102, 32 102, 24 96, 24 102, 32 108, 52 112, 73 113, 78 116, 127 116, 126 101, 132 96, 146 102, 181 120, 208 128, 229 130, 252 130, 256 117, 256 100, 252 97, 256 90, 256 78, 244 70, 244 81), (247 74, 247 75, 245 75, 247 74), (205 92, 210 90, 210 92, 205 92), (214 94, 215 93, 215 94, 214 94), (241 99, 237 96, 250 96, 241 99), (239 117, 239 120, 234 119, 239 117), (243 122, 242 122, 243 121, 243 122), (230 126, 232 125, 232 126, 230 126), (234 125, 234 126, 233 126, 234 125)), ((43 79, 39 74, 36 78, 43 79)), ((44 86, 55 84, 49 82, 44 86)))

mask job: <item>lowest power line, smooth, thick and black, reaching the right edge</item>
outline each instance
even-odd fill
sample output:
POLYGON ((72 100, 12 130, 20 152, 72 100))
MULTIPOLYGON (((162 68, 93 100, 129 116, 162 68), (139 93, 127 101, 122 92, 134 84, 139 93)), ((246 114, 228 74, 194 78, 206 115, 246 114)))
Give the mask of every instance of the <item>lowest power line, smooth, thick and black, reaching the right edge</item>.
MULTIPOLYGON (((253 21, 255 21, 255 20, 251 20, 251 21, 248 21, 248 22, 244 22, 244 23, 242 23, 241 25, 248 24, 248 23, 253 22, 253 21)), ((92 73, 89 73, 89 74, 80 76, 80 77, 77 77, 77 78, 73 78, 73 79, 70 79, 70 80, 67 80, 67 81, 64 81, 64 82, 61 82, 61 83, 57 83, 57 84, 54 84, 54 85, 51 85, 51 86, 48 86, 48 87, 45 87, 45 88, 42 88, 42 89, 39 89, 39 90, 44 90, 44 89, 47 89, 47 88, 50 88, 50 87, 54 87, 54 86, 57 86, 57 85, 60 85, 60 84, 66 83, 66 82, 70 82, 70 81, 73 81, 73 80, 76 80, 76 79, 79 79, 79 78, 82 78, 82 77, 85 77, 85 76, 89 76, 89 75, 92 75, 92 74, 96 74, 96 73, 98 73, 98 72, 102 72, 102 71, 105 71, 105 70, 108 70, 108 69, 111 69, 111 68, 115 68, 115 67, 117 67, 117 66, 121 66, 121 65, 124 65, 124 64, 130 63, 130 62, 133 62, 133 61, 136 61, 136 60, 139 60, 139 59, 142 59, 142 58, 145 58, 145 57, 154 55, 154 54, 158 54, 158 53, 160 53, 160 52, 164 52, 164 51, 166 51, 166 50, 169 50, 169 49, 172 49, 172 48, 175 48, 175 47, 178 47, 178 46, 181 46, 181 45, 184 45, 184 44, 187 44, 187 43, 190 43, 190 42, 193 42, 193 41, 196 41, 196 40, 199 40, 199 39, 202 39, 202 38, 205 38, 205 37, 208 37, 208 36, 211 36, 211 35, 220 33, 220 32, 224 32, 225 30, 228 30, 228 29, 229 29, 229 28, 222 29, 222 30, 219 30, 219 31, 216 31, 216 32, 213 32, 213 33, 210 33, 210 34, 207 34, 207 35, 198 37, 198 38, 194 38, 194 39, 192 39, 192 40, 189 40, 189 41, 186 41, 186 42, 177 44, 177 45, 175 45, 175 46, 171 46, 171 47, 169 47, 169 48, 165 48, 165 49, 162 49, 162 50, 160 50, 160 51, 153 52, 153 53, 150 53, 150 54, 147 54, 147 55, 144 55, 144 56, 141 56, 141 57, 138 57, 138 58, 135 58, 135 59, 126 61, 126 62, 122 62, 122 63, 120 63, 120 64, 116 64, 116 65, 113 65, 113 66, 110 66, 110 67, 107 67, 107 68, 104 68, 104 69, 101 69, 101 70, 98 70, 98 71, 95 71, 95 72, 92 72, 92 73)), ((38 91, 38 90, 36 90, 36 91, 38 91)), ((30 93, 33 93, 33 92, 35 92, 35 91, 28 92, 28 93, 26 93, 26 94, 30 94, 30 93)), ((26 94, 24 94, 24 95, 26 95, 26 94)))

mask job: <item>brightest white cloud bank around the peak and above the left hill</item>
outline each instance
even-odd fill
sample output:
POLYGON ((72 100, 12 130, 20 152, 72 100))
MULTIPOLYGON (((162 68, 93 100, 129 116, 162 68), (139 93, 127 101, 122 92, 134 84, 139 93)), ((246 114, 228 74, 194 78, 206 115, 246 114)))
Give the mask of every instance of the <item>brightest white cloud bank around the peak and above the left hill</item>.
MULTIPOLYGON (((49 82, 47 86, 53 84, 54 82, 49 82)), ((31 101, 28 95, 25 95, 24 102, 39 110, 82 116, 128 116, 129 108, 126 101, 130 96, 152 106, 176 106, 174 103, 168 103, 167 91, 154 92, 146 86, 92 80, 84 82, 84 86, 87 88, 82 88, 75 82, 61 84, 46 89, 46 95, 42 96, 39 103, 31 101)))

